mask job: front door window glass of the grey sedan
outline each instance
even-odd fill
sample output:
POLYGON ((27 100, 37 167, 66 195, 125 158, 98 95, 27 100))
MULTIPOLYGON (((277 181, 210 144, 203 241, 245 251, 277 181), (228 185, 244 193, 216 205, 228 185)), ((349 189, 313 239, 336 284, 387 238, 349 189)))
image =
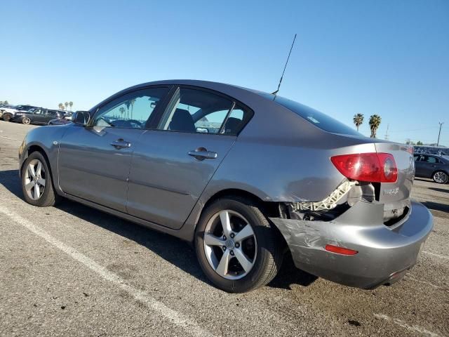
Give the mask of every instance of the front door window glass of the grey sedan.
POLYGON ((98 110, 93 126, 145 128, 168 88, 147 88, 127 93, 98 110))

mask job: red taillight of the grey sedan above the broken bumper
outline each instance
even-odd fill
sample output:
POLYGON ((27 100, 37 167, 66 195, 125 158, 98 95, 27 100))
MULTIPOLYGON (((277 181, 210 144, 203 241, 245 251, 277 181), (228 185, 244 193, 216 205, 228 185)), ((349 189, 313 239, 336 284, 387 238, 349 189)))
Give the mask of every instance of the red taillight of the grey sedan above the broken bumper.
POLYGON ((330 160, 349 179, 370 183, 396 183, 398 179, 396 161, 389 153, 343 154, 330 160))

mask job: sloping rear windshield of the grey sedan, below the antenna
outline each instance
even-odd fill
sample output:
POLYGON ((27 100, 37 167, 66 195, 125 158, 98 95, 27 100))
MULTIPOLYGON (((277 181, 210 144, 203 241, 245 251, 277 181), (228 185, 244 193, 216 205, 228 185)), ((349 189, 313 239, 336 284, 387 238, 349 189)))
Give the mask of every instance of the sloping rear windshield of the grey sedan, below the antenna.
POLYGON ((354 128, 343 124, 341 121, 337 121, 337 119, 329 117, 327 114, 323 114, 323 112, 314 110, 311 107, 307 107, 306 105, 297 103, 294 100, 288 100, 287 98, 283 98, 281 96, 274 96, 269 93, 258 93, 264 96, 264 98, 274 100, 274 102, 279 103, 288 110, 295 112, 295 114, 300 115, 300 117, 306 121, 309 121, 311 124, 314 124, 314 126, 321 128, 321 130, 332 133, 342 133, 344 135, 362 136, 361 133, 355 131, 354 128))

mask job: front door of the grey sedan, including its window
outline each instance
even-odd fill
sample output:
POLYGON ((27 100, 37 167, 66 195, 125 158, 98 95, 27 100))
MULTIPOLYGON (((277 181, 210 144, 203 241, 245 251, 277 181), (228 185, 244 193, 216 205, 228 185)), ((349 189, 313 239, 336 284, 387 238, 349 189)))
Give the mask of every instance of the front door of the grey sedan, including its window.
POLYGON ((60 143, 60 187, 67 194, 126 212, 131 158, 147 120, 168 88, 121 95, 72 126, 60 143))

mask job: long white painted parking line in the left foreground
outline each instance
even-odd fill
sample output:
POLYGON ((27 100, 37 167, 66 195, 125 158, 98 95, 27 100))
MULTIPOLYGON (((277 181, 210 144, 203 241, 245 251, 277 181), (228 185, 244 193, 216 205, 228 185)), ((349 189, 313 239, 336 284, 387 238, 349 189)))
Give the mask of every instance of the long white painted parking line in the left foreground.
POLYGON ((162 317, 165 317, 172 324, 181 327, 192 336, 213 336, 208 331, 202 329, 198 324, 196 324, 196 322, 185 317, 180 312, 168 308, 166 305, 159 302, 159 300, 156 300, 155 298, 150 296, 149 293, 147 293, 146 291, 135 289, 132 286, 126 284, 125 281, 121 279, 121 277, 115 275, 113 272, 109 272, 109 270, 107 270, 105 267, 96 263, 94 260, 91 260, 91 258, 88 258, 87 256, 83 255, 83 253, 76 251, 76 249, 72 248, 71 246, 68 246, 63 242, 60 242, 58 239, 55 239, 50 234, 42 230, 40 227, 31 223, 29 220, 22 218, 13 211, 5 209, 3 206, 0 206, 0 213, 3 213, 4 215, 11 218, 11 220, 13 220, 15 223, 22 225, 23 227, 27 228, 27 230, 30 230, 31 232, 38 235, 42 239, 46 240, 46 242, 48 242, 49 244, 52 244, 61 251, 64 251, 69 256, 79 261, 93 272, 96 272, 103 279, 107 279, 107 281, 116 284, 121 289, 123 289, 124 291, 128 292, 131 296, 133 296, 133 298, 135 298, 136 300, 140 300, 142 303, 145 303, 148 308, 154 310, 162 317))

